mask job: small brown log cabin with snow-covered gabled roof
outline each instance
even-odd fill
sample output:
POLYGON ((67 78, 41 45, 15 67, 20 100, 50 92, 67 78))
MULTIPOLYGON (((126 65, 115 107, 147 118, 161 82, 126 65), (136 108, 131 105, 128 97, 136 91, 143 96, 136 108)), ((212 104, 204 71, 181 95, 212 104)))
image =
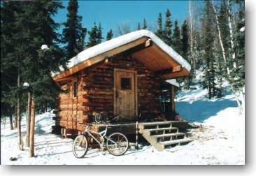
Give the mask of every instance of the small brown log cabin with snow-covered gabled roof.
MULTIPOLYGON (((61 89, 69 90, 57 97, 53 129, 83 131, 77 121, 92 122, 94 112, 126 119, 113 125, 126 134, 135 133, 136 120, 142 131, 146 126, 175 128, 178 123, 168 116, 175 112, 176 79, 189 74, 190 64, 151 31, 134 31, 87 48, 69 60, 66 70, 52 74, 61 89), (157 122, 159 117, 165 121, 157 122)), ((95 125, 96 130, 104 126, 95 125)))

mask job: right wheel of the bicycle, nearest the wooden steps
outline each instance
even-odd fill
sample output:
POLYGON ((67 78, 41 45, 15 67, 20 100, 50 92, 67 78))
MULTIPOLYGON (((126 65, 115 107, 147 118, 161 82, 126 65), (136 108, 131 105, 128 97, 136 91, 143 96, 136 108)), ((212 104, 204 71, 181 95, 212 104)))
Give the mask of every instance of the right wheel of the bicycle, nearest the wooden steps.
POLYGON ((122 133, 113 133, 108 137, 107 149, 109 153, 120 156, 127 152, 128 147, 129 141, 122 133))

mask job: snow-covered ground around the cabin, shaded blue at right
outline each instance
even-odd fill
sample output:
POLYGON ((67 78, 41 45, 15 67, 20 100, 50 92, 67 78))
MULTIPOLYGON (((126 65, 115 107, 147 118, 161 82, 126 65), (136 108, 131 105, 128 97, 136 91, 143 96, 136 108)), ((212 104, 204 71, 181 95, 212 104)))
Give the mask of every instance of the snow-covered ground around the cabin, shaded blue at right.
MULTIPOLYGON (((27 157, 27 148, 20 152, 17 147, 17 131, 10 131, 8 122, 1 124, 2 164, 245 164, 245 117, 238 115, 234 97, 227 94, 223 98, 208 101, 207 92, 197 87, 178 95, 177 111, 189 122, 201 124, 192 129, 194 141, 188 145, 157 152, 151 146, 134 146, 124 156, 113 156, 99 149, 90 149, 83 159, 76 159, 71 151, 72 140, 62 139, 50 133, 52 114, 47 112, 36 116, 35 158, 27 157), (16 157, 17 161, 10 161, 16 157)), ((22 134, 25 124, 22 122, 22 134)))

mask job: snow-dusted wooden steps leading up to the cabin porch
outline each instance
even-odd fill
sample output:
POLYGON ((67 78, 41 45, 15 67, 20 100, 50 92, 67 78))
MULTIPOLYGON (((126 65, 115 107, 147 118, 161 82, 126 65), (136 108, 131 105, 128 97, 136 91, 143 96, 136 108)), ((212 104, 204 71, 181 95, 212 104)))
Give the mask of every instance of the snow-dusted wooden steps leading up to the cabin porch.
POLYGON ((166 146, 180 145, 191 142, 187 138, 187 133, 180 132, 178 126, 185 126, 187 122, 183 121, 165 121, 139 123, 139 133, 148 140, 150 145, 158 151, 163 151, 166 146))

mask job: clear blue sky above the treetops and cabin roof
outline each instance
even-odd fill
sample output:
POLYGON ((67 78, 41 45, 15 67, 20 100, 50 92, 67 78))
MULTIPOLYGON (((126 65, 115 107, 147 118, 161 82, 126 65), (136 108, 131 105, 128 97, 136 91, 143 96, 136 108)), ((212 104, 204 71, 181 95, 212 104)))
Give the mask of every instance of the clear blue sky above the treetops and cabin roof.
MULTIPOLYGON (((56 22, 66 21, 68 3, 69 1, 62 1, 65 8, 59 10, 54 17, 56 22)), ((83 17, 83 27, 90 30, 94 22, 101 22, 104 39, 109 29, 113 29, 115 34, 118 24, 128 23, 135 29, 138 22, 143 22, 144 17, 147 22, 156 24, 159 12, 164 15, 167 8, 171 11, 171 20, 178 20, 180 23, 188 13, 188 1, 78 1, 78 5, 78 15, 83 17)), ((88 35, 86 41, 87 38, 88 35)))

